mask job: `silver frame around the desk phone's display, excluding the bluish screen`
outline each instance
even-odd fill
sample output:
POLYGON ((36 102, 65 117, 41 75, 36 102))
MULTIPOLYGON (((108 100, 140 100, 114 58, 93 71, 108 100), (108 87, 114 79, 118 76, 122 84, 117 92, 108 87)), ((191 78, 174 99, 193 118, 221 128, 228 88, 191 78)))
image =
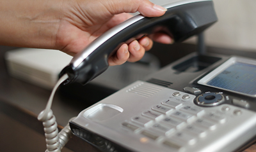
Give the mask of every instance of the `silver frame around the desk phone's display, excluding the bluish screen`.
POLYGON ((251 95, 251 94, 248 94, 248 93, 237 92, 237 91, 234 91, 234 90, 229 90, 229 89, 226 89, 226 88, 221 88, 221 87, 218 87, 218 86, 212 86, 212 85, 207 84, 209 81, 211 81, 211 79, 215 78, 216 76, 218 76, 218 74, 222 73, 223 71, 225 71, 225 69, 232 66, 233 64, 236 64, 237 62, 242 63, 242 64, 250 64, 250 65, 256 66, 256 60, 245 59, 245 58, 241 58, 241 57, 231 57, 226 62, 224 62, 223 64, 218 66, 216 69, 211 71, 211 73, 205 75, 203 78, 201 78, 199 81, 197 81, 197 83, 200 84, 200 85, 211 86, 213 88, 219 88, 221 90, 227 90, 228 92, 239 93, 241 95, 246 95, 246 96, 249 96, 249 97, 256 97, 256 93, 254 95, 251 95))

